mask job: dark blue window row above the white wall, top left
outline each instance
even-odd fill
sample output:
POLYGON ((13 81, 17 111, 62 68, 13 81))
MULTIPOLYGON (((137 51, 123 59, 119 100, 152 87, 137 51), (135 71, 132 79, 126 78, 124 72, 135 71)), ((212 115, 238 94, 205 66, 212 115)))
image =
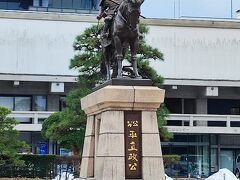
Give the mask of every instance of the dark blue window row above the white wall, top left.
POLYGON ((29 10, 30 7, 96 10, 99 0, 0 0, 0 9, 29 10))

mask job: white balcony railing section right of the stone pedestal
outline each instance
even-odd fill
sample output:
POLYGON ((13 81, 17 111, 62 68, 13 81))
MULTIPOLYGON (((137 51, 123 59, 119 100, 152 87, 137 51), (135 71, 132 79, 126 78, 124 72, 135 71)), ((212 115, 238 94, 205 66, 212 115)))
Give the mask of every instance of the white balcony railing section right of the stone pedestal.
POLYGON ((175 133, 240 133, 239 115, 170 114, 167 122, 175 133))

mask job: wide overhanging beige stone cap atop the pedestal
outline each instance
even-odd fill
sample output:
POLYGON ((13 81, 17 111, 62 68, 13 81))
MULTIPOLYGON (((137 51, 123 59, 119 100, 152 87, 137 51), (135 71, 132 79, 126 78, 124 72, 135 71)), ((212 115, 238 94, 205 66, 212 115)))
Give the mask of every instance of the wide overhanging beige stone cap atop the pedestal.
POLYGON ((81 99, 86 114, 106 110, 156 110, 165 91, 157 87, 106 86, 81 99))

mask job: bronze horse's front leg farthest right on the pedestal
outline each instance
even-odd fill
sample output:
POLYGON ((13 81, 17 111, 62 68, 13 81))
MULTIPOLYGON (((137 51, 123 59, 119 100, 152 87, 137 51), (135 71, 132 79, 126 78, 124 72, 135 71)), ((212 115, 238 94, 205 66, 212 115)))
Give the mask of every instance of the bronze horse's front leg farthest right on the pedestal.
POLYGON ((138 38, 136 38, 130 43, 130 49, 131 49, 131 61, 132 61, 134 76, 136 79, 141 79, 142 76, 138 74, 138 68, 137 68, 138 38))

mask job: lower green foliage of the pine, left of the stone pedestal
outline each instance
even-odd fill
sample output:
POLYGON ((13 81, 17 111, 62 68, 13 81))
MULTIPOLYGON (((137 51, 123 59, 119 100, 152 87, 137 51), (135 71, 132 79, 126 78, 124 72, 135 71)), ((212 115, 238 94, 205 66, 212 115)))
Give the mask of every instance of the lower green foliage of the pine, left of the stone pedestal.
POLYGON ((49 116, 42 126, 45 139, 59 142, 75 155, 81 154, 86 126, 86 115, 81 110, 80 98, 89 92, 87 88, 72 90, 65 98, 66 108, 49 116))

